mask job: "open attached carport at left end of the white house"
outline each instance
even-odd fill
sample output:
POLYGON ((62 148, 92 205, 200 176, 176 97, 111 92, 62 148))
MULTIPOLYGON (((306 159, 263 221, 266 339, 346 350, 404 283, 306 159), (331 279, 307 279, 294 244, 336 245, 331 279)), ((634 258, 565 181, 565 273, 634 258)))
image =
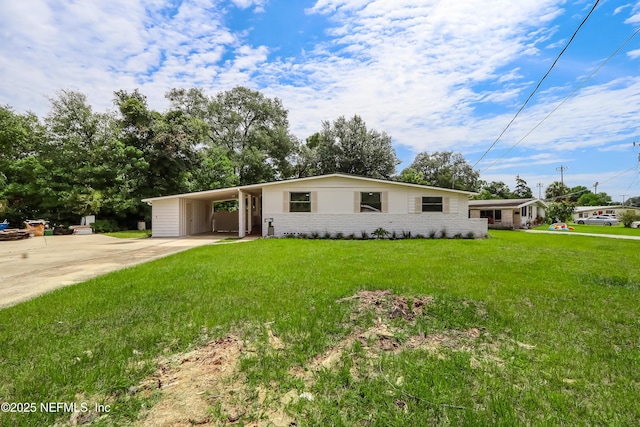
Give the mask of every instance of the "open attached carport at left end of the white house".
POLYGON ((246 185, 143 199, 151 206, 153 237, 183 237, 211 232, 251 234, 262 226, 262 186, 246 185), (214 203, 236 200, 237 211, 214 210, 214 203))

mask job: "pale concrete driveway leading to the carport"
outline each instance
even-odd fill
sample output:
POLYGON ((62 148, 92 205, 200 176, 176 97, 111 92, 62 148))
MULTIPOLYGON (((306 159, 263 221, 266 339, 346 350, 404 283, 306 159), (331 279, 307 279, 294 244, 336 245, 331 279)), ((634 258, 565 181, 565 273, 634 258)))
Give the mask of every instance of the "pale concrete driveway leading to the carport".
POLYGON ((0 242, 0 307, 227 237, 118 239, 92 234, 0 242))

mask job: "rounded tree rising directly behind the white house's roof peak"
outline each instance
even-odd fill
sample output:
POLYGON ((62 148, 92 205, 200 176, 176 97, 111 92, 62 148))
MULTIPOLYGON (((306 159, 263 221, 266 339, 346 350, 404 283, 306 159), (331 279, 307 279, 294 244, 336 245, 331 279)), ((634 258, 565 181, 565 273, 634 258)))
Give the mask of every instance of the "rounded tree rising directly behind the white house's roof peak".
POLYGON ((358 115, 323 121, 322 130, 307 140, 314 175, 348 173, 389 179, 400 161, 386 132, 367 129, 358 115))

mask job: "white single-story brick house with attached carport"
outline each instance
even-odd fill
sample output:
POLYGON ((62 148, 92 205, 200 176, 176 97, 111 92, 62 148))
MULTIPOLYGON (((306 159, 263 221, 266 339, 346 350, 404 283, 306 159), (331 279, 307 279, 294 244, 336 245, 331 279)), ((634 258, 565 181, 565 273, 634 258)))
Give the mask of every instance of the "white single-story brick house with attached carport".
POLYGON ((377 228, 440 236, 484 237, 486 219, 468 217, 474 193, 345 174, 244 185, 144 199, 152 206, 154 237, 211 231, 262 236, 362 232, 377 228), (214 212, 213 203, 238 200, 234 212, 214 212))

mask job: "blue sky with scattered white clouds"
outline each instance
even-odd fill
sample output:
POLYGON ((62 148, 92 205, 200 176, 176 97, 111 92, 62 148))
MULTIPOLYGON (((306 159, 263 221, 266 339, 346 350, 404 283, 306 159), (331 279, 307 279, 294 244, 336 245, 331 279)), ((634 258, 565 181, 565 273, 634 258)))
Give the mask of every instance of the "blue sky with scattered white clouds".
POLYGON ((487 181, 519 175, 537 194, 563 165, 567 185, 622 200, 640 195, 640 35, 604 62, 640 28, 635 0, 600 1, 478 162, 594 1, 3 1, 0 104, 44 117, 73 89, 105 111, 139 88, 163 111, 174 87, 242 85, 280 98, 300 139, 360 115, 393 137, 398 172, 452 150, 487 181))

